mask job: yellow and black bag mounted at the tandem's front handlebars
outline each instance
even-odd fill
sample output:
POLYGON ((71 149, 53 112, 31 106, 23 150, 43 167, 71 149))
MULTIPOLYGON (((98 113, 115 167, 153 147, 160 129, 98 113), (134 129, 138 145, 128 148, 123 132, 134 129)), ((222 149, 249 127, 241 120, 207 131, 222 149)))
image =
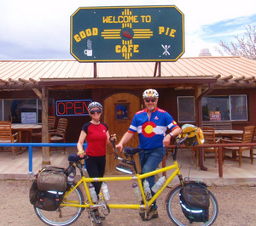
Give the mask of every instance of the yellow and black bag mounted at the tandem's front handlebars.
POLYGON ((185 138, 187 134, 188 137, 184 140, 184 144, 187 147, 203 144, 205 142, 204 135, 200 127, 195 127, 192 124, 184 124, 182 126, 182 133, 178 136, 179 138, 185 138))

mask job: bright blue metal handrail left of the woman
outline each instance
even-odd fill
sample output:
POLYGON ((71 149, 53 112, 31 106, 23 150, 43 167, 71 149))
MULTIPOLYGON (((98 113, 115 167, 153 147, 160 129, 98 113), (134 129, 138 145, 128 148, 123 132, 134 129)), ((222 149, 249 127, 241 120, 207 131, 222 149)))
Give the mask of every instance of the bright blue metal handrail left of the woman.
MULTIPOLYGON (((32 171, 32 147, 76 147, 77 143, 0 143, 0 147, 28 147, 28 173, 33 174, 32 171)), ((84 149, 87 144, 84 144, 84 149)))

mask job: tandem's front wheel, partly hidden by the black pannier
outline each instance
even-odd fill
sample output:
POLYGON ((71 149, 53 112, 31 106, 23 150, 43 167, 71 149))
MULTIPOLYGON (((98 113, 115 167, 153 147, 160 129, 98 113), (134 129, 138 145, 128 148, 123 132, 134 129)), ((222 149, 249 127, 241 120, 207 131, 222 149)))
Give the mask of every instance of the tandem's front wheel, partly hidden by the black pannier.
MULTIPOLYGON (((166 212, 168 213, 169 218, 172 220, 172 223, 175 225, 190 225, 189 220, 183 215, 183 211, 180 206, 179 191, 181 185, 178 185, 173 189, 167 199, 166 199, 166 212)), ((209 220, 206 223, 203 222, 193 222, 193 225, 212 225, 218 217, 218 202, 211 191, 210 195, 210 206, 209 206, 209 220)))

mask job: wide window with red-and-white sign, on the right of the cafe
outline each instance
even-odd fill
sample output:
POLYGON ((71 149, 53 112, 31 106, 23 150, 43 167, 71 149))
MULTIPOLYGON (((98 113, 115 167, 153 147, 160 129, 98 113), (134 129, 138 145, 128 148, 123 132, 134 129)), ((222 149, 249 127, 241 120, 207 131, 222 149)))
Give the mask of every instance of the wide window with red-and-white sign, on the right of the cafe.
POLYGON ((202 99, 203 121, 247 120, 247 96, 212 96, 202 99))

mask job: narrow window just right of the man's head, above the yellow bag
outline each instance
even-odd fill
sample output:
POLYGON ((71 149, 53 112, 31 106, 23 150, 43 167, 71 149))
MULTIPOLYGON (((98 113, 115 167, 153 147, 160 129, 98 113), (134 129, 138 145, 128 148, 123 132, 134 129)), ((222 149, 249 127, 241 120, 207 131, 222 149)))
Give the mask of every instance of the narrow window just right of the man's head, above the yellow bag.
POLYGON ((195 122, 194 97, 177 97, 177 120, 179 122, 195 122))

